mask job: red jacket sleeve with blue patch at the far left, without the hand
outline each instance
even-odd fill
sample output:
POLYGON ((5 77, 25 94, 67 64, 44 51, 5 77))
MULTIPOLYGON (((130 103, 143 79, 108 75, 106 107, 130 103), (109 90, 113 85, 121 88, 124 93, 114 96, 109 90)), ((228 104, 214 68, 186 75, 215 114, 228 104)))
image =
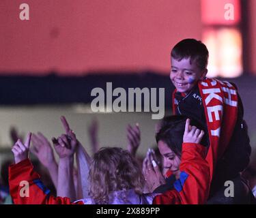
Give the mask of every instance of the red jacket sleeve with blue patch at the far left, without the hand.
POLYGON ((50 196, 50 191, 40 181, 39 174, 33 171, 29 159, 9 167, 9 185, 14 204, 74 204, 69 198, 50 196))

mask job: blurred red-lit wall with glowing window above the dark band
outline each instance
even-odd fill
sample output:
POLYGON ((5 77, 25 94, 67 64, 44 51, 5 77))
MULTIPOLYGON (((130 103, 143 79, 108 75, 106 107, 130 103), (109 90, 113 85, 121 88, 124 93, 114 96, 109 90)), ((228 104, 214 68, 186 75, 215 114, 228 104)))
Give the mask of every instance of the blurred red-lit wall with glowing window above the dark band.
MULTIPOLYGON (((239 56, 239 49, 244 49, 242 40, 246 41, 246 69, 256 74, 253 40, 256 1, 253 0, 246 1, 246 35, 239 26, 242 7, 238 0, 1 0, 0 7, 2 74, 45 75, 54 70, 61 75, 82 75, 124 69, 131 72, 152 69, 168 74, 169 52, 185 37, 209 44, 210 64, 214 65, 211 69, 217 66, 218 70, 223 67, 215 59, 216 50, 223 51, 218 46, 233 39, 231 46, 238 46, 239 56), (19 19, 21 3, 29 5, 30 20, 19 19), (226 3, 234 5, 234 20, 224 18, 226 3), (212 29, 215 26, 235 27, 238 32, 215 31, 212 29)), ((235 74, 217 72, 213 76, 239 76, 243 63, 240 63, 242 57, 236 58, 239 72, 235 69, 235 74)), ((232 65, 232 60, 225 63, 230 61, 232 65)))

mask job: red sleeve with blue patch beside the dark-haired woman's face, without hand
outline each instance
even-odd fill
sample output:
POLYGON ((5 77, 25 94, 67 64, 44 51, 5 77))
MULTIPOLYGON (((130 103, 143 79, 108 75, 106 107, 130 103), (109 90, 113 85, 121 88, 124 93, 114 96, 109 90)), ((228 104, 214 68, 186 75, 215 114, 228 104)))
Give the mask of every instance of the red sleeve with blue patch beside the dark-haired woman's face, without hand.
POLYGON ((153 204, 204 204, 210 189, 210 169, 201 144, 183 143, 180 179, 175 189, 156 196, 153 204))

